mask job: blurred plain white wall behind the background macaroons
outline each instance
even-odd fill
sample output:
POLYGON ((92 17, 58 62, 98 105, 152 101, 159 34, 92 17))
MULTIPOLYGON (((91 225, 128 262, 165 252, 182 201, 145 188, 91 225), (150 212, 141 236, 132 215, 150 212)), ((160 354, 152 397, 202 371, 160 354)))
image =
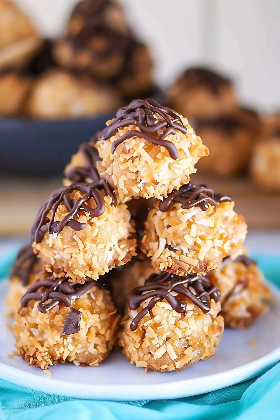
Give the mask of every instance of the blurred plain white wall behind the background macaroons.
MULTIPOLYGON (((63 30, 76 0, 16 0, 41 31, 63 30)), ((119 0, 170 84, 186 66, 209 63, 236 79, 238 95, 264 111, 280 109, 280 0, 119 0)))

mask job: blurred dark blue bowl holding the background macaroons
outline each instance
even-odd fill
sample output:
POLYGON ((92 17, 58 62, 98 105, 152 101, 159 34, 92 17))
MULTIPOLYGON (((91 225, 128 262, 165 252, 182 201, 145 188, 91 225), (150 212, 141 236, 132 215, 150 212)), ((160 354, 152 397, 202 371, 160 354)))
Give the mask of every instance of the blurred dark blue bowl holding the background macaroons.
POLYGON ((0 174, 61 176, 79 144, 88 142, 114 114, 53 121, 0 119, 0 174))

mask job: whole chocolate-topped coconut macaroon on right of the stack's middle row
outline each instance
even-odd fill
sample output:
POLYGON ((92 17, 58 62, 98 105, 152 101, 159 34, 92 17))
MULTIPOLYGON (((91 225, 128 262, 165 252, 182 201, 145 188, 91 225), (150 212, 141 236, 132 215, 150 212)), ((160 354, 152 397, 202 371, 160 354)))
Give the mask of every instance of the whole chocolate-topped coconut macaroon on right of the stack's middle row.
POLYGON ((141 250, 153 267, 204 274, 243 244, 247 226, 227 195, 189 183, 149 211, 141 250))

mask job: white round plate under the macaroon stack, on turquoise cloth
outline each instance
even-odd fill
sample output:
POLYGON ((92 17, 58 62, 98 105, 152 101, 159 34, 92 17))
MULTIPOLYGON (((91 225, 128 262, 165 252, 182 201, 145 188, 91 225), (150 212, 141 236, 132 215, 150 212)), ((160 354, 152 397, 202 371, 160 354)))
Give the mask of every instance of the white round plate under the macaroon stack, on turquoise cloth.
MULTIPOLYGON (((215 357, 191 365, 183 372, 157 373, 130 365, 121 352, 113 352, 98 367, 71 363, 50 368, 51 376, 29 367, 13 352, 12 333, 0 316, 0 378, 51 394, 115 401, 171 399, 215 391, 253 377, 280 360, 280 290, 270 311, 247 330, 226 330, 215 357), (256 344, 252 346, 251 340, 256 344)), ((0 284, 0 313, 7 283, 0 284)))

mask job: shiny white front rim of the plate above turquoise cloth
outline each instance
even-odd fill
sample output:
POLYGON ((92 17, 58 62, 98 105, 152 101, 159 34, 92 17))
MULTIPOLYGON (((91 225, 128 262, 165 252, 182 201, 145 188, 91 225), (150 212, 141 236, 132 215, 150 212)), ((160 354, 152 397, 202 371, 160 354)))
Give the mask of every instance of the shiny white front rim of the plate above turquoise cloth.
MULTIPOLYGON (((6 281, 2 281, 1 283, 0 288, 3 287, 3 284, 5 284, 6 281)), ((267 281, 267 283, 277 300, 280 302, 280 289, 269 281, 267 281)), ((152 383, 144 386, 135 383, 118 384, 118 386, 79 383, 79 386, 77 387, 75 382, 67 382, 52 378, 51 376, 43 377, 35 375, 32 372, 26 372, 18 367, 7 365, 4 362, 0 362, 0 378, 35 391, 42 391, 70 398, 110 401, 150 401, 151 396, 153 400, 177 399, 201 395, 227 386, 232 386, 250 378, 254 378, 279 360, 280 345, 259 359, 246 363, 246 365, 234 367, 220 373, 200 376, 199 378, 172 381, 172 386, 168 386, 169 383, 165 382, 162 384, 152 383), (110 397, 108 398, 108 396, 110 397)))

